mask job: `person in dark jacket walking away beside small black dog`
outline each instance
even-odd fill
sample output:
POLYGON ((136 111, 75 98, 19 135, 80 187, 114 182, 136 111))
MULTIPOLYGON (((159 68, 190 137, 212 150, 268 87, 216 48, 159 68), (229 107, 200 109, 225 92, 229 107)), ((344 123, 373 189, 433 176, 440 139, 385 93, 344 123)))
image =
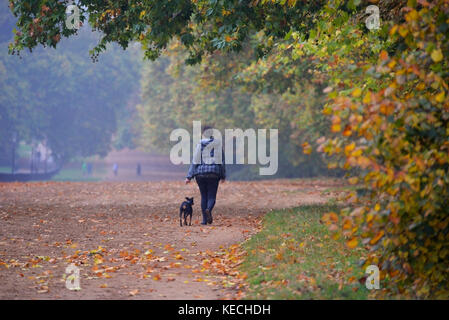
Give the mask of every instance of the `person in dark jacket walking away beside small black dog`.
MULTIPOLYGON (((209 126, 204 127, 203 135, 209 126)), ((226 179, 226 167, 221 141, 212 135, 202 139, 196 146, 192 164, 186 177, 186 184, 195 178, 201 193, 201 211, 203 221, 201 224, 212 224, 212 209, 215 206, 218 184, 226 179)))

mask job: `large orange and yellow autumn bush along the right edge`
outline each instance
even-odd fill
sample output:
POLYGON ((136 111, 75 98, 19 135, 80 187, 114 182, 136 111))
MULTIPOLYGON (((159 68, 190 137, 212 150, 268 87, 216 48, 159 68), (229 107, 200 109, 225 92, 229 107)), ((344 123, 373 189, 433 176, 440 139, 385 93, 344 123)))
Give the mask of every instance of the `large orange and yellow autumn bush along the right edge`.
POLYGON ((383 293, 448 298, 449 2, 408 1, 400 12, 377 61, 362 58, 372 53, 364 44, 357 63, 336 56, 331 73, 350 81, 329 94, 333 134, 319 150, 368 192, 325 218, 348 246, 370 248, 365 265, 379 266, 383 293))

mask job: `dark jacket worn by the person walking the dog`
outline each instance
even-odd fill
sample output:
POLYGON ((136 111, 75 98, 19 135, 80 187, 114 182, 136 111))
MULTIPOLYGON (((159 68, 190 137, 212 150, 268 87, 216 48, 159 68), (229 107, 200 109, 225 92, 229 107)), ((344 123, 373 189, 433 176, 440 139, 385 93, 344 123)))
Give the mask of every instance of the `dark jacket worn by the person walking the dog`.
MULTIPOLYGON (((219 152, 219 151, 218 151, 219 152)), ((192 179, 196 176, 215 174, 220 179, 226 179, 226 166, 224 152, 220 140, 215 140, 213 137, 210 139, 202 139, 196 146, 193 154, 192 163, 187 173, 187 179, 192 179), (203 154, 206 146, 209 146, 210 152, 203 154), (221 150, 221 163, 217 150, 221 150)))

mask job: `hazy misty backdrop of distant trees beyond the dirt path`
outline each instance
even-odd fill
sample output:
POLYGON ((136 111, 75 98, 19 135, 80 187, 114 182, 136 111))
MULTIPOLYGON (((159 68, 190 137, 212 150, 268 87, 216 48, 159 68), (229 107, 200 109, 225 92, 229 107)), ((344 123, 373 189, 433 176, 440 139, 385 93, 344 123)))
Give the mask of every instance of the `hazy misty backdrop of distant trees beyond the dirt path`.
MULTIPOLYGON (((212 55, 186 66, 176 41, 155 62, 143 60, 137 44, 126 51, 111 45, 93 62, 89 50, 99 36, 84 25, 57 49, 18 57, 8 54, 15 19, 8 1, 1 0, 0 174, 36 178, 50 172, 41 178, 64 181, 182 179, 187 166, 169 162, 174 145, 169 136, 175 128, 191 132, 194 120, 222 133, 279 129, 277 174, 259 176, 258 165, 230 165, 230 180, 338 174, 320 155, 302 151, 325 125, 322 84, 303 77, 297 88, 267 87, 257 72, 263 61, 251 62, 250 46, 238 55, 212 55)), ((280 76, 267 74, 268 83, 280 76)))

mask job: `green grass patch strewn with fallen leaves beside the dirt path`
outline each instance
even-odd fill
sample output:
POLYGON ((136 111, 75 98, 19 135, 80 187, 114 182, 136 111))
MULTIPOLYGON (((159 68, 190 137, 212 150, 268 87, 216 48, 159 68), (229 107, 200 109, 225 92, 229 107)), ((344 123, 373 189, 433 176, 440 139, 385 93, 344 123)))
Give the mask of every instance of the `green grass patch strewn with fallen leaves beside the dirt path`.
POLYGON ((357 280, 363 248, 350 250, 334 240, 321 216, 334 205, 272 211, 262 230, 244 243, 240 266, 248 276, 247 299, 367 299, 357 280))

